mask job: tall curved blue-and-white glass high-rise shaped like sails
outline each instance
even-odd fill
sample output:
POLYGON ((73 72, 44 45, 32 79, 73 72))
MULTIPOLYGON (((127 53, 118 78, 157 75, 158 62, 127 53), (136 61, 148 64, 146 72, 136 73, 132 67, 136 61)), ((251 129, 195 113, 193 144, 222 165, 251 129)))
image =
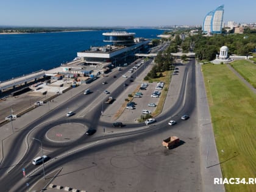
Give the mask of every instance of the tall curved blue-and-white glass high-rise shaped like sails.
POLYGON ((210 34, 221 34, 223 15, 224 5, 210 11, 204 18, 202 31, 210 34))

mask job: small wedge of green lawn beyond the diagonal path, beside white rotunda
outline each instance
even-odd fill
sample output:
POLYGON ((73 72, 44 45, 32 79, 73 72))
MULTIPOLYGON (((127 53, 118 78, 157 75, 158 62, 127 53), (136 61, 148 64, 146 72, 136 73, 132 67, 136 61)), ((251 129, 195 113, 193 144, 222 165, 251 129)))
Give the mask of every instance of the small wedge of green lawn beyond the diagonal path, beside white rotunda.
POLYGON ((237 60, 230 65, 244 77, 254 88, 256 88, 256 64, 247 60, 237 60))

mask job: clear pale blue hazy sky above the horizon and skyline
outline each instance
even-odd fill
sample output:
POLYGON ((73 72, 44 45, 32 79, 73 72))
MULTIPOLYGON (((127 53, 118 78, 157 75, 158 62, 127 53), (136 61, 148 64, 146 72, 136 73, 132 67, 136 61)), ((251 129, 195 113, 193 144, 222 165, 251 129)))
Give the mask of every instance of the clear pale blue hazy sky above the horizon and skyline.
POLYGON ((256 22, 255 0, 0 0, 0 26, 201 25, 222 4, 225 22, 256 22))

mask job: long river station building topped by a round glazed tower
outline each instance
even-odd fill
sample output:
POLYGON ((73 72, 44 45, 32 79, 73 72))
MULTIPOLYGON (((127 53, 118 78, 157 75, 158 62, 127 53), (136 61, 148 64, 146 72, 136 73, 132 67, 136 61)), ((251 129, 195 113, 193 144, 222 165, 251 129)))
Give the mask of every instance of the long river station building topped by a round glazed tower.
POLYGON ((103 41, 111 44, 91 46, 88 50, 77 52, 77 57, 83 60, 85 65, 101 65, 102 68, 123 65, 128 56, 148 48, 151 41, 135 38, 135 33, 125 31, 105 32, 102 35, 103 41))

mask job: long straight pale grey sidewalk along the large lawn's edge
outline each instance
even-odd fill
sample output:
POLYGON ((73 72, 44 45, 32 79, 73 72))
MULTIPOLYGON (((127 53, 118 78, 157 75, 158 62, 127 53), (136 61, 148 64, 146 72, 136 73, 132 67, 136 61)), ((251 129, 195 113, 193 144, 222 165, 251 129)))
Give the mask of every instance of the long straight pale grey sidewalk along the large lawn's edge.
POLYGON ((203 191, 225 191, 224 185, 215 185, 214 178, 222 178, 221 166, 216 149, 215 135, 205 92, 201 65, 196 64, 197 113, 199 120, 199 137, 201 152, 201 178, 203 191))

